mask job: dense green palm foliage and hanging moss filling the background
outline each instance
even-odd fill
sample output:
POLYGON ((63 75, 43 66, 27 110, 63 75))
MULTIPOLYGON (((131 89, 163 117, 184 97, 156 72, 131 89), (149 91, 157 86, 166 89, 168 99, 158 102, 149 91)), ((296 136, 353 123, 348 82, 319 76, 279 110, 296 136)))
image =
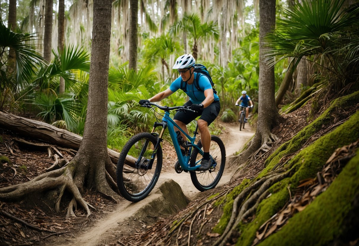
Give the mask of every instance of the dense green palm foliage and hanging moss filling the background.
MULTIPOLYGON (((150 4, 141 5, 140 11, 145 17, 139 24, 139 66, 137 71, 129 71, 125 59, 127 41, 123 39, 125 34, 119 33, 121 30, 126 33, 129 28, 124 21, 129 14, 124 3, 113 3, 113 8, 118 10, 118 15, 113 16, 118 19, 113 21, 121 25, 112 26, 113 36, 118 37, 118 40, 111 40, 108 79, 109 147, 120 149, 132 134, 149 131, 155 116, 148 109, 139 107, 137 101, 167 89, 178 76, 177 71, 172 70, 174 59, 186 52, 193 52, 196 62, 208 67, 213 77, 222 106, 218 119, 237 120, 238 108, 234 103, 241 96, 242 90, 247 90, 255 106, 257 105, 260 89, 259 28, 258 13, 254 5, 246 5, 242 10, 238 9, 238 5, 232 5, 233 9, 229 9, 226 18, 229 20, 228 25, 232 23, 227 29, 233 32, 228 31, 225 41, 221 40, 221 13, 213 3, 201 6, 198 11, 197 8, 192 8, 192 13, 181 8, 184 12, 179 15, 176 14, 180 8, 177 5, 165 4, 162 6, 163 13, 154 11, 150 4), (144 11, 145 8, 148 11, 144 11), (149 14, 151 11, 152 14, 149 14), (222 65, 222 42, 230 48, 225 66, 222 65)), ((359 10, 357 6, 346 9, 343 3, 343 0, 304 1, 302 5, 285 9, 285 3, 278 2, 276 30, 268 37, 272 48, 268 59, 276 57, 276 89, 288 66, 288 60, 284 58, 290 57, 296 58, 293 62, 298 62, 298 58, 303 56, 314 62, 309 86, 314 82, 326 81, 322 80, 323 77, 333 78, 332 75, 340 78, 336 90, 358 80, 359 10)), ((83 17, 83 9, 81 10, 79 3, 66 4, 72 4, 66 10, 69 23, 83 17)), ((0 13, 3 22, 8 18, 7 9, 7 3, 2 2, 0 13)), ((82 18, 87 22, 81 20, 76 25, 67 26, 65 43, 69 45, 62 52, 53 51, 52 61, 46 64, 39 55, 41 46, 38 46, 38 39, 41 36, 26 34, 31 25, 38 28, 35 22, 39 19, 33 15, 41 16, 41 8, 33 1, 20 0, 17 11, 16 32, 11 32, 3 23, 0 26, 0 108, 36 114, 48 123, 82 134, 88 100, 91 15, 82 18), (26 6, 30 7, 29 13, 26 6), (74 35, 77 38, 74 39, 74 35), (74 43, 81 46, 77 47, 74 43), (17 66, 13 74, 8 72, 10 47, 17 52, 17 66), (65 93, 62 95, 59 94, 60 77, 65 80, 65 93)), ((91 10, 83 12, 91 13, 91 10)), ((162 104, 180 105, 186 100, 186 95, 178 92, 164 99, 162 104)), ((212 126, 212 130, 214 129, 217 128, 212 126)))

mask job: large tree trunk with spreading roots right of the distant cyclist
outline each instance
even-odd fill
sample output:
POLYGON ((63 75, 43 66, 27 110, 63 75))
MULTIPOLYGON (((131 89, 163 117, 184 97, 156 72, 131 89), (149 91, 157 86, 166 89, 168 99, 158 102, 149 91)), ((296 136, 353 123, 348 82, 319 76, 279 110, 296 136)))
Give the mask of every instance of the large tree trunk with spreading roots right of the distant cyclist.
POLYGON ((258 125, 257 131, 250 146, 242 154, 242 160, 246 160, 256 151, 268 151, 272 142, 277 137, 270 131, 280 121, 280 115, 275 106, 274 97, 274 67, 269 67, 265 62, 267 47, 264 44, 264 36, 272 32, 275 26, 275 0, 259 1, 259 91, 258 91, 258 125), (258 150, 259 148, 259 150, 258 150))

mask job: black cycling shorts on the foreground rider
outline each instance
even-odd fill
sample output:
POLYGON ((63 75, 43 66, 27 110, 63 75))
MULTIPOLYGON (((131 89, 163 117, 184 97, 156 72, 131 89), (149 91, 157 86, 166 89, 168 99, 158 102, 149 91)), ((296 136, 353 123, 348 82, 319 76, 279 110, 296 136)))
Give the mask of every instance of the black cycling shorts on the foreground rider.
MULTIPOLYGON (((192 102, 187 101, 183 106, 191 106, 192 102)), ((200 117, 200 119, 204 120, 208 123, 208 126, 217 118, 219 114, 219 110, 221 109, 221 105, 219 101, 214 101, 207 108, 201 109, 200 112, 191 112, 191 111, 177 111, 174 115, 173 119, 179 120, 186 125, 189 124, 192 120, 200 117)))

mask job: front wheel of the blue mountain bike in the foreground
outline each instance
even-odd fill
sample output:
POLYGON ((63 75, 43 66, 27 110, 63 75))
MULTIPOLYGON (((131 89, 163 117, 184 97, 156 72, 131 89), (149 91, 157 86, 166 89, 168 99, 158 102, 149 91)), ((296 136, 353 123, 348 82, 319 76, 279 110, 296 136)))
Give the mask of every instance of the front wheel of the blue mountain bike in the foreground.
POLYGON ((150 133, 139 133, 131 137, 123 147, 117 162, 117 187, 121 195, 131 202, 144 199, 157 183, 162 169, 162 148, 158 147, 152 166, 151 156, 157 143, 157 137, 150 133), (132 161, 126 161, 126 156, 132 161), (126 163, 126 164, 125 164, 126 163))

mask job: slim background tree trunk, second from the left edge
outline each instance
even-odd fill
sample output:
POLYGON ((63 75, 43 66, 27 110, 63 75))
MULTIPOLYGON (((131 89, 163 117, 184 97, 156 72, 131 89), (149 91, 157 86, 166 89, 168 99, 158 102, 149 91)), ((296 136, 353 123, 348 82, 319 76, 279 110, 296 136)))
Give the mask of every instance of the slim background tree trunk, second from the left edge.
POLYGON ((52 12, 53 0, 46 0, 45 30, 44 30, 44 59, 51 61, 51 40, 52 40, 52 12))

